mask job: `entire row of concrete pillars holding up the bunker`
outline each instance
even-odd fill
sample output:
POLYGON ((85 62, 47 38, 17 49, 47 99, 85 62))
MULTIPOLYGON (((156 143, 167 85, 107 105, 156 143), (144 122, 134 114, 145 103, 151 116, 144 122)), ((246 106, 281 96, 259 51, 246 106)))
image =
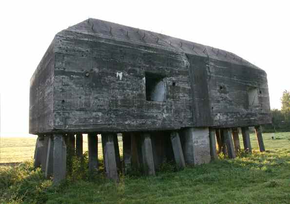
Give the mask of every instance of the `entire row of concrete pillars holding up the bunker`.
MULTIPOLYGON (((260 151, 264 151, 262 132, 255 127, 260 151)), ((244 149, 251 152, 249 128, 242 128, 244 149)), ((35 150, 35 167, 41 166, 47 178, 53 176, 58 184, 66 175, 68 151, 81 157, 83 152, 82 134, 47 134, 39 136, 35 150)), ((118 173, 141 170, 155 175, 155 170, 165 161, 174 161, 177 169, 185 164, 209 163, 223 152, 230 158, 240 151, 236 129, 184 128, 180 131, 123 133, 123 160, 120 159, 116 133, 102 133, 102 150, 106 176, 118 181, 118 173), (231 136, 232 132, 232 136, 231 136), (216 151, 216 142, 218 151, 216 151)), ((89 170, 98 170, 97 133, 88 134, 89 170)))

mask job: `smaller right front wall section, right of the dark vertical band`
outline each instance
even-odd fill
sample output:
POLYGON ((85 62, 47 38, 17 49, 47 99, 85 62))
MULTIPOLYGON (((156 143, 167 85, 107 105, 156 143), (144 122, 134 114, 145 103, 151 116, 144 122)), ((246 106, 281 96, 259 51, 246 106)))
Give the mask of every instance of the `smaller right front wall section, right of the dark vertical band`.
POLYGON ((267 74, 210 58, 207 69, 213 126, 243 127, 271 123, 267 74), (252 97, 249 97, 249 95, 252 97))

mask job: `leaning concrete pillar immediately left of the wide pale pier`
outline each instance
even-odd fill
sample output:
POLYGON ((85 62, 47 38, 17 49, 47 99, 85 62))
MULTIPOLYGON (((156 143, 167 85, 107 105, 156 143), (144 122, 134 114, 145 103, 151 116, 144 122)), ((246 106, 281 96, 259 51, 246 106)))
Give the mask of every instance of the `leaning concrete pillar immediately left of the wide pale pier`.
POLYGON ((179 134, 177 132, 172 132, 170 135, 170 138, 171 138, 176 167, 177 169, 184 169, 185 160, 183 156, 179 134))

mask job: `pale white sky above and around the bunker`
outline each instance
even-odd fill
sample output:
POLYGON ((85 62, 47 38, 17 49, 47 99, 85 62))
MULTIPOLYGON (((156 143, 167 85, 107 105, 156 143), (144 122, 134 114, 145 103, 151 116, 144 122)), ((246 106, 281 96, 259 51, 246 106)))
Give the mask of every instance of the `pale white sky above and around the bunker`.
POLYGON ((288 0, 2 0, 1 136, 29 136, 29 80, 54 35, 88 17, 231 51, 267 72, 271 108, 290 90, 288 0))

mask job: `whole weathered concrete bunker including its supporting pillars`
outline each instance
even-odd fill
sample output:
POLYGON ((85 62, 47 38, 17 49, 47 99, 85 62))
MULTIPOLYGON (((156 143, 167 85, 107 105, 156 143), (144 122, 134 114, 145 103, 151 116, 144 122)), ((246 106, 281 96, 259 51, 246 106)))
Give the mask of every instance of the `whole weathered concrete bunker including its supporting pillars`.
POLYGON ((117 179, 121 166, 155 174, 164 160, 178 168, 208 163, 216 140, 234 157, 238 127, 250 151, 255 126, 263 151, 260 125, 271 123, 264 70, 228 51, 92 18, 56 34, 31 78, 29 114, 36 154, 46 157, 37 164, 55 163, 56 183, 65 176, 57 160, 67 146, 79 152, 83 133, 92 170, 101 134, 106 174, 117 179), (53 162, 49 151, 59 154, 53 162))

